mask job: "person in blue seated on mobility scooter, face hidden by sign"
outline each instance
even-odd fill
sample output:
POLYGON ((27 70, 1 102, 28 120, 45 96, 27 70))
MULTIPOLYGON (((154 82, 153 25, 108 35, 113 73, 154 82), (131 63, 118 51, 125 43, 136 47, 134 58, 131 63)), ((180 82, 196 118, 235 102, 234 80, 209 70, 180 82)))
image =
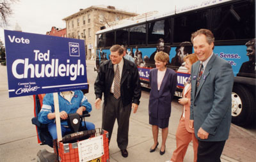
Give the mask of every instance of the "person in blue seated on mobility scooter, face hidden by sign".
MULTIPOLYGON (((88 102, 86 96, 84 96, 83 92, 80 90, 76 91, 66 91, 66 92, 58 92, 59 99, 59 107, 60 107, 60 118, 61 118, 61 134, 62 136, 67 135, 68 133, 74 133, 74 130, 70 128, 70 123, 68 123, 67 119, 70 114, 79 114, 83 115, 84 112, 91 112, 92 105, 88 102)), ((36 105, 36 103, 35 103, 36 105)), ((38 104, 37 104, 38 105, 38 104)), ((37 108, 38 110, 38 108, 37 108)), ((37 113, 36 113, 37 114, 37 113)), ((56 123, 55 123, 55 113, 54 113, 54 99, 53 94, 45 94, 42 108, 37 118, 32 119, 32 122, 37 119, 41 125, 44 125, 49 131, 48 134, 52 137, 52 143, 47 140, 41 140, 42 144, 47 144, 54 149, 54 159, 58 161, 58 147, 57 147, 57 131, 56 131, 56 123)), ((95 126, 92 122, 81 122, 81 127, 79 131, 83 130, 91 130, 95 129, 95 126)), ((38 124, 36 124, 38 126, 38 124)), ((41 132, 42 133, 42 132, 41 132)), ((45 134, 45 133, 43 133, 45 134)), ((46 133, 47 134, 47 133, 46 133)), ((42 135, 39 136, 42 138, 42 135)), ((43 137, 45 138, 45 136, 43 137)))

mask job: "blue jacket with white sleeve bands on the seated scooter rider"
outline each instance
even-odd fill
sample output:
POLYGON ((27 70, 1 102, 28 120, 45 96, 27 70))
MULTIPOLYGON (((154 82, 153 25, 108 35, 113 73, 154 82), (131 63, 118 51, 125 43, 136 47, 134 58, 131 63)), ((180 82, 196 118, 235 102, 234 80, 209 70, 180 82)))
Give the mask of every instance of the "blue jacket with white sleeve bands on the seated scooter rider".
MULTIPOLYGON (((92 105, 88 102, 86 96, 84 96, 83 92, 80 90, 74 91, 74 96, 71 99, 71 103, 67 99, 60 96, 60 92, 58 92, 58 98, 59 98, 60 112, 65 111, 67 112, 67 114, 76 113, 77 109, 81 106, 86 107, 86 110, 88 112, 92 111, 92 105)), ((54 110, 53 94, 52 93, 45 94, 42 109, 38 114, 38 121, 43 124, 49 124, 50 122, 55 122, 55 119, 49 120, 47 118, 47 115, 50 112, 54 112, 54 111, 55 110, 54 110)), ((61 125, 67 126, 67 121, 61 122, 61 125)))

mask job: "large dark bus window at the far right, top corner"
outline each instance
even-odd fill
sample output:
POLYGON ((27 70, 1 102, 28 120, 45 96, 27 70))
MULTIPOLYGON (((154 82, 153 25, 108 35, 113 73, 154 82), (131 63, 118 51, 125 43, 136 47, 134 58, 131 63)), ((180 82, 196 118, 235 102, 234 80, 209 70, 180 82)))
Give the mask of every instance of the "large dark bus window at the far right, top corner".
POLYGON ((255 37, 255 2, 243 1, 212 9, 215 40, 239 40, 255 37))

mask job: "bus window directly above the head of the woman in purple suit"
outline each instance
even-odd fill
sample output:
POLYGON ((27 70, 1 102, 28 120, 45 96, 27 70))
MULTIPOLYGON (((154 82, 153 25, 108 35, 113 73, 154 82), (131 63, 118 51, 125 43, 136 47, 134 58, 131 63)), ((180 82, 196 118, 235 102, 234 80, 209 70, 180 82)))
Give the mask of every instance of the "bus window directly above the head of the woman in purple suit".
POLYGON ((159 38, 164 39, 164 43, 170 43, 171 39, 171 19, 166 18, 148 24, 148 44, 157 44, 159 38))

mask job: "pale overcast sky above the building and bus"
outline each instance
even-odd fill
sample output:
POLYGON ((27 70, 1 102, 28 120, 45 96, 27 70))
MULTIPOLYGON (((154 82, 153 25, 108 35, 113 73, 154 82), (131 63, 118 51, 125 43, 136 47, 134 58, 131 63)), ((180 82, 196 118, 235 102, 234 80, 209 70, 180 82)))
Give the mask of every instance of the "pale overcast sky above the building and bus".
POLYGON ((93 5, 115 6, 142 14, 149 11, 164 13, 174 10, 175 6, 180 8, 204 1, 209 0, 19 0, 11 5, 13 14, 8 18, 8 26, 0 27, 0 40, 4 42, 4 29, 46 34, 52 26, 65 28, 63 18, 93 5))

